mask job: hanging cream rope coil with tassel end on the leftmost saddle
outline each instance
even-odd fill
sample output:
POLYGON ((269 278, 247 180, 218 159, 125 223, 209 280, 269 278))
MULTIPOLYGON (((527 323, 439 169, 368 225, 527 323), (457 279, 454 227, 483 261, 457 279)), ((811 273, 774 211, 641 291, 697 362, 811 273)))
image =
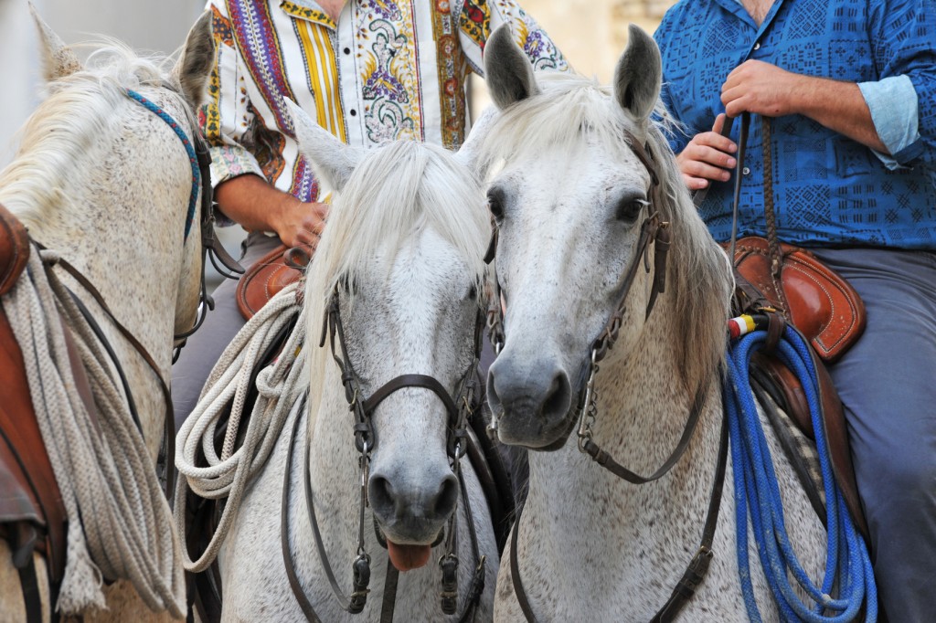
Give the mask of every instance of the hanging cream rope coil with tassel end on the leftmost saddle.
POLYGON ((182 548, 168 502, 123 391, 102 363, 108 355, 66 287, 45 269, 57 257, 34 249, 20 280, 0 302, 22 350, 39 430, 68 516, 58 610, 67 616, 106 607, 103 575, 130 580, 151 609, 182 617, 182 548), (63 322, 87 370, 96 425, 75 387, 63 322))

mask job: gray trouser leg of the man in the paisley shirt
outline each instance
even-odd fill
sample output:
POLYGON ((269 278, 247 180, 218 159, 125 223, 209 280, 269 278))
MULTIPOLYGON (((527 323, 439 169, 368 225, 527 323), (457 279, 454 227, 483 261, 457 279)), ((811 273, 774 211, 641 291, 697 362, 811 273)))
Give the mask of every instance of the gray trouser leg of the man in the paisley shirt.
MULTIPOLYGON (((279 244, 280 239, 275 236, 250 234, 241 244, 241 266, 250 268, 279 244)), ((214 289, 214 310, 208 312, 204 324, 188 339, 182 355, 172 366, 172 407, 176 430, 195 409, 201 387, 227 344, 247 323, 237 309, 236 290, 237 282, 233 280, 225 280, 214 289)))

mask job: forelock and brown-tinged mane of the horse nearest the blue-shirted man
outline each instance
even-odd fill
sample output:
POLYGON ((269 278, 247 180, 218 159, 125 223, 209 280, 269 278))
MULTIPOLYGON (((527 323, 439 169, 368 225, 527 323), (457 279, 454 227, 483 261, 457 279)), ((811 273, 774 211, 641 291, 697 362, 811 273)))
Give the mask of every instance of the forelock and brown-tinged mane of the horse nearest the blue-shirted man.
POLYGON ((631 151, 627 136, 646 141, 665 197, 665 205, 657 209, 672 227, 666 292, 673 303, 666 313, 673 315, 676 335, 682 338, 677 345, 682 381, 688 391, 695 391, 709 383, 724 357, 732 283, 726 256, 696 214, 665 139, 665 133, 674 130, 671 118, 658 100, 654 121, 639 125, 614 101, 611 87, 573 73, 537 73, 536 80, 540 94, 513 104, 491 123, 479 150, 480 170, 493 171, 517 159, 535 160, 556 147, 577 154, 585 148, 583 130, 614 154, 631 151))

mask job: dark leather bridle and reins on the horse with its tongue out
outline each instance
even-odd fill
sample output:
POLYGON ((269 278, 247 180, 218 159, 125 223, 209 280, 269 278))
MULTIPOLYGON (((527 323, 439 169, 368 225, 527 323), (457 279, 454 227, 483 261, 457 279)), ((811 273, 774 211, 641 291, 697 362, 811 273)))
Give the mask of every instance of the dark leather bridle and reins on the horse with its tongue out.
MULTIPOLYGON (((467 621, 475 615, 478 601, 484 590, 485 565, 487 557, 480 554, 471 502, 468 498, 468 491, 465 486, 464 477, 461 471, 461 457, 465 455, 468 449, 469 418, 472 415, 472 403, 475 398, 475 372, 478 364, 478 357, 481 349, 481 333, 484 326, 484 314, 478 312, 475 322, 475 356, 461 377, 457 395, 455 398, 449 396, 443 384, 435 378, 425 374, 402 374, 390 379, 376 389, 369 398, 363 398, 363 392, 360 390, 360 379, 351 363, 347 353, 347 346, 344 338, 344 326, 341 318, 341 307, 339 303, 338 288, 336 286, 329 304, 326 307, 322 321, 322 335, 319 340, 319 347, 324 347, 326 340, 329 341, 331 355, 341 370, 342 384, 344 384, 344 397, 348 402, 349 411, 354 418, 355 447, 360 456, 358 456, 358 471, 360 473, 359 486, 359 512, 358 512, 358 557, 355 558, 352 565, 352 585, 353 590, 349 596, 345 596, 335 574, 331 569, 325 545, 322 541, 321 531, 319 529, 318 519, 315 514, 314 494, 312 491, 309 443, 306 443, 303 469, 303 485, 305 491, 306 513, 309 517, 309 523, 312 525, 315 547, 318 551, 319 559, 322 562, 323 570, 329 579, 331 591, 338 601, 340 607, 349 614, 358 614, 363 611, 367 603, 367 595, 370 592, 368 588, 371 579, 371 557, 364 547, 364 526, 365 509, 368 506, 367 484, 370 475, 371 453, 378 443, 377 431, 373 427, 372 416, 377 406, 388 398, 391 394, 407 388, 420 387, 429 389, 432 393, 442 400, 448 413, 448 440, 446 442, 446 452, 452 465, 452 471, 458 477, 461 487, 461 500, 465 505, 466 516, 468 517, 468 528, 472 545, 474 548, 475 571, 472 577, 471 586, 468 589, 464 608, 458 620, 467 621), (337 348, 336 348, 337 342, 337 348)), ((293 430, 289 441, 289 455, 286 462, 286 470, 283 479, 283 498, 282 514, 280 522, 280 545, 283 551, 283 561, 285 564, 286 576, 289 580, 289 587, 292 589, 296 601, 299 602, 302 613, 309 621, 320 621, 321 618, 315 613, 312 602, 305 594, 302 588, 299 576, 296 572, 296 565, 293 559, 292 551, 289 547, 289 499, 291 497, 291 473, 293 455, 295 454, 295 441, 299 424, 302 421, 297 415, 296 422, 293 424, 293 430)), ((440 591, 442 612, 445 615, 455 615, 458 605, 458 566, 459 558, 455 554, 456 542, 456 515, 453 512, 448 520, 446 528, 446 553, 439 558, 439 566, 442 569, 442 590, 440 591)), ((374 523, 374 530, 377 533, 378 541, 386 547, 380 531, 374 523)), ((435 544, 435 543, 433 543, 435 544)), ((396 601, 396 588, 399 578, 399 571, 389 561, 387 563, 387 576, 384 587, 384 601, 381 607, 381 623, 390 623, 393 620, 394 603, 396 601)))

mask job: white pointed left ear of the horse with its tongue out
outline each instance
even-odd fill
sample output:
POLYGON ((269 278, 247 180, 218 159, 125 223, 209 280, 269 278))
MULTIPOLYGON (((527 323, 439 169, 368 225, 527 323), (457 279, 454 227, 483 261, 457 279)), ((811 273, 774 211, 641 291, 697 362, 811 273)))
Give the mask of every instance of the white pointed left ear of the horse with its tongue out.
POLYGON ((345 145, 330 132, 309 118, 305 110, 290 99, 284 98, 286 109, 292 117, 299 151, 313 167, 315 174, 326 181, 332 189, 340 191, 358 167, 364 151, 345 145))

